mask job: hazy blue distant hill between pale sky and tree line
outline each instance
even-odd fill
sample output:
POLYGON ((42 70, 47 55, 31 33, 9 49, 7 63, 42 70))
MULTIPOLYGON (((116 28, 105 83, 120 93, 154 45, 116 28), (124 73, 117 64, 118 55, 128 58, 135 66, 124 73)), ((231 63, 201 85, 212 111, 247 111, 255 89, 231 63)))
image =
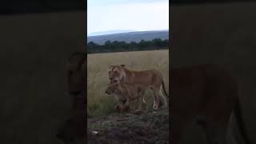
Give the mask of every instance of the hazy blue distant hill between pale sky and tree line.
POLYGON ((97 44, 104 44, 106 41, 124 41, 124 42, 140 42, 142 39, 150 41, 154 38, 169 39, 169 30, 157 31, 138 31, 121 34, 106 34, 98 36, 87 37, 87 42, 94 42, 97 44))

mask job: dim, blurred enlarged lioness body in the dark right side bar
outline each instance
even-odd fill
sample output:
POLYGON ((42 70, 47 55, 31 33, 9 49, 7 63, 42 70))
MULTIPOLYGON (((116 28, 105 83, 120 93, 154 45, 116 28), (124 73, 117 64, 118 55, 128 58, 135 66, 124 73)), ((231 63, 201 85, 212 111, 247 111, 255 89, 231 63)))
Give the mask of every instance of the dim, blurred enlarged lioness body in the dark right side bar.
POLYGON ((247 137, 239 106, 238 83, 219 66, 198 65, 170 70, 171 144, 177 144, 191 122, 197 122, 212 144, 225 142, 230 114, 234 111, 246 144, 247 137))

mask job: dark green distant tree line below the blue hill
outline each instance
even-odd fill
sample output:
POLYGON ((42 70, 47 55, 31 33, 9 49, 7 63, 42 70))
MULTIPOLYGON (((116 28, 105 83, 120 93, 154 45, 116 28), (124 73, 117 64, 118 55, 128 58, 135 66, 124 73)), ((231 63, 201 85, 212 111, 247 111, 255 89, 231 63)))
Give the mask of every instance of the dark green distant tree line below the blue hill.
POLYGON ((94 53, 109 53, 109 52, 121 52, 121 51, 137 51, 137 50, 163 50, 168 49, 169 40, 162 40, 161 38, 155 38, 152 41, 140 42, 118 42, 118 41, 106 41, 104 45, 98 45, 94 42, 87 43, 87 54, 94 53))

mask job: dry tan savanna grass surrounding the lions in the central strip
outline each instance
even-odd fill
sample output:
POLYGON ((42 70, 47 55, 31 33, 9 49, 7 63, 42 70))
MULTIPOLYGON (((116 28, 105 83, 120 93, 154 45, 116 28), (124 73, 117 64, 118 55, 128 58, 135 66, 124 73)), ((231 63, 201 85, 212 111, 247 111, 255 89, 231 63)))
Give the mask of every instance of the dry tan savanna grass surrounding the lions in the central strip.
MULTIPOLYGON (((160 70, 166 90, 169 91, 169 50, 117 52, 88 54, 87 59, 87 112, 88 117, 99 117, 114 113, 114 97, 105 94, 109 84, 110 65, 125 64, 129 70, 160 70)), ((146 92, 148 108, 153 106, 153 95, 146 92)))

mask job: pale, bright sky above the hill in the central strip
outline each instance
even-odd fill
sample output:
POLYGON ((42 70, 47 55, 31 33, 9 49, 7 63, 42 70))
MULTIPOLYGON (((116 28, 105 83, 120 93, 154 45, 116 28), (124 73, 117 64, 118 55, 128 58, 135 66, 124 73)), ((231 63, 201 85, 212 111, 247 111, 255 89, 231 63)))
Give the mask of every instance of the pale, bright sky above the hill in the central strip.
POLYGON ((87 34, 169 30, 169 0, 87 0, 87 34))

